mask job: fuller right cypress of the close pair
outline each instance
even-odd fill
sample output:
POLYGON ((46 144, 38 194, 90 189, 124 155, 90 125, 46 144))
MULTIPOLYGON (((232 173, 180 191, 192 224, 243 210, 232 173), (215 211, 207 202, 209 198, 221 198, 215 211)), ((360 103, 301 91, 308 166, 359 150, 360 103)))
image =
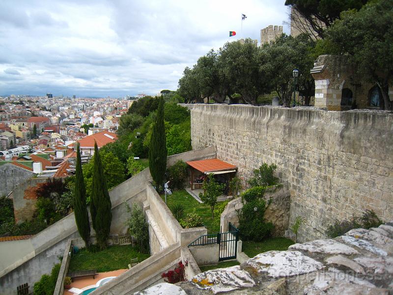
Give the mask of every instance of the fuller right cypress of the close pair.
POLYGON ((90 213, 97 243, 101 249, 107 246, 112 223, 112 203, 107 189, 100 153, 94 143, 94 168, 91 186, 90 213))

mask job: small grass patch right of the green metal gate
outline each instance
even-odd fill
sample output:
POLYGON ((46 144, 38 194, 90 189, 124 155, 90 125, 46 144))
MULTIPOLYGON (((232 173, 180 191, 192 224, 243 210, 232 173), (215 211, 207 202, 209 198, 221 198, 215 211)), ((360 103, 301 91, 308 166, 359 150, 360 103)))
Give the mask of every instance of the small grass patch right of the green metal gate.
POLYGON ((294 244, 292 240, 286 237, 268 237, 261 242, 243 241, 242 251, 252 258, 255 255, 267 251, 285 251, 290 245, 294 244))

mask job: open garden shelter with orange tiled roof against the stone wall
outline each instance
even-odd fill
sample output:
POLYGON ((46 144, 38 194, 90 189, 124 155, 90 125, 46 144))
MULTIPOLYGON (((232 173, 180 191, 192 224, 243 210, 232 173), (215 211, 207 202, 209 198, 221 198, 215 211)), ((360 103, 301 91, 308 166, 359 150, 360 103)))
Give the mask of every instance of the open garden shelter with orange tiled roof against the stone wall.
POLYGON ((201 189, 203 180, 211 173, 215 175, 217 181, 226 183, 226 188, 228 188, 230 179, 235 176, 237 171, 236 166, 217 158, 187 161, 186 163, 190 166, 191 170, 191 190, 201 189))

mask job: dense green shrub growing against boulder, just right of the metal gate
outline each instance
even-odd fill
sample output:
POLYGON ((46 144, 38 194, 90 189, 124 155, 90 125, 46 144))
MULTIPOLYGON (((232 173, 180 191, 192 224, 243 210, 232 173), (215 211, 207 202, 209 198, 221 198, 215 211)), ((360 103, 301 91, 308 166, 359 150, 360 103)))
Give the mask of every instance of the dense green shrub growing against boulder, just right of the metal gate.
POLYGON ((266 202, 256 199, 246 203, 239 211, 239 231, 243 240, 261 241, 270 236, 274 228, 273 223, 265 222, 263 214, 266 210, 266 202))

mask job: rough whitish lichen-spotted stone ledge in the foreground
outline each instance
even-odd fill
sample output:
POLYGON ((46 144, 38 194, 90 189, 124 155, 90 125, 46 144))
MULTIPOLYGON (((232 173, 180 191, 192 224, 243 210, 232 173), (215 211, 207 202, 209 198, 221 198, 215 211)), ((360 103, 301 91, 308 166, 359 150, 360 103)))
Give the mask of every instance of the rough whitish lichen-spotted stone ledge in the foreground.
MULTIPOLYGON (((393 294, 392 256, 393 221, 200 273, 178 283, 176 294, 389 295, 393 294)), ((166 284, 152 288, 154 294, 171 294, 166 284)))

